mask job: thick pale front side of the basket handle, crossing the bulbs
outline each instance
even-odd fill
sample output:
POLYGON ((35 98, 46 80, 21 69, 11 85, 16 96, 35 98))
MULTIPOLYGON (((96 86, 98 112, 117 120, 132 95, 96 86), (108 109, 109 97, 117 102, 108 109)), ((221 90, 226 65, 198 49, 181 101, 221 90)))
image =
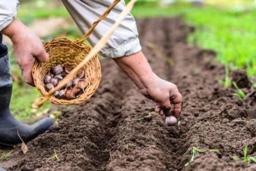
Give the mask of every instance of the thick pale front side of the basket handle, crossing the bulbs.
POLYGON ((78 71, 84 67, 84 65, 90 61, 95 55, 99 53, 101 48, 105 46, 105 44, 108 42, 109 38, 111 38, 111 35, 114 33, 114 31, 117 29, 117 27, 120 25, 120 23, 124 20, 124 18, 129 14, 129 12, 132 10, 132 7, 134 3, 137 0, 131 0, 127 6, 125 6, 124 10, 121 12, 119 15, 119 18, 117 18, 116 22, 114 25, 111 27, 111 29, 108 30, 108 32, 100 39, 99 42, 93 47, 92 50, 90 50, 89 54, 82 60, 81 63, 79 63, 62 81, 50 92, 45 96, 45 97, 40 97, 38 98, 34 104, 32 105, 32 108, 39 108, 44 102, 48 101, 49 98, 56 92, 58 89, 61 89, 64 87, 70 80, 73 79, 73 77, 78 73, 78 71))

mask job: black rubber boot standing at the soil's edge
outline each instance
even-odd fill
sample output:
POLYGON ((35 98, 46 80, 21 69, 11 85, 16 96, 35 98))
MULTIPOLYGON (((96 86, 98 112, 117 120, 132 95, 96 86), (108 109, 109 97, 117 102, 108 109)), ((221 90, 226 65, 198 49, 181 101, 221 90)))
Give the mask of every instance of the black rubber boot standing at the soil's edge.
POLYGON ((27 142, 44 133, 54 125, 49 117, 46 117, 31 126, 22 124, 17 121, 10 112, 9 105, 11 100, 12 87, 0 88, 0 145, 14 146, 21 143, 22 140, 27 142), (19 133, 19 136, 18 136, 19 133))

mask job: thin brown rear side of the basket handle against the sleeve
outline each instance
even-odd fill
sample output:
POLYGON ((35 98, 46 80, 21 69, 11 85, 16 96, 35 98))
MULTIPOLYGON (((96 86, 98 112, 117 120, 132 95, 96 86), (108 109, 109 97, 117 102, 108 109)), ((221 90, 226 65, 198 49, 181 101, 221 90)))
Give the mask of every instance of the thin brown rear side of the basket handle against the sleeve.
POLYGON ((93 22, 92 26, 90 27, 89 30, 86 31, 86 33, 84 34, 84 36, 77 41, 76 43, 78 44, 82 44, 82 42, 84 42, 92 33, 92 31, 94 30, 94 28, 98 25, 98 23, 103 20, 104 18, 106 18, 108 16, 108 14, 111 12, 111 10, 113 9, 113 7, 115 7, 117 5, 117 3, 119 3, 120 0, 115 0, 111 6, 108 7, 107 10, 105 10, 105 12, 103 14, 100 15, 100 18, 97 19, 96 21, 93 22))

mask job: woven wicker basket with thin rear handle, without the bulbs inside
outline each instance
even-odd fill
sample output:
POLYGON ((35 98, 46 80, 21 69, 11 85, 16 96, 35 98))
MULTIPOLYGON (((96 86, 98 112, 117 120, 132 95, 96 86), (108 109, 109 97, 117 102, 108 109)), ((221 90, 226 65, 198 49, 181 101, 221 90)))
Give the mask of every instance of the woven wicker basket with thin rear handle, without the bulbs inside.
MULTIPOLYGON (((90 51, 90 47, 83 42, 92 33, 94 27, 96 27, 102 19, 107 17, 109 12, 119 1, 120 0, 114 1, 112 5, 108 7, 101 17, 93 23, 92 27, 90 27, 81 40, 72 41, 68 38, 61 37, 54 38, 52 41, 45 43, 45 50, 49 53, 50 59, 45 63, 36 61, 32 69, 34 83, 43 97, 49 95, 49 92, 45 90, 44 77, 48 74, 50 68, 56 65, 76 67, 81 63, 90 51)), ((88 83, 84 93, 72 100, 58 99, 54 96, 50 96, 49 101, 53 104, 72 105, 80 104, 92 97, 93 93, 97 90, 101 79, 100 61, 97 55, 92 57, 83 66, 83 70, 85 71, 85 81, 88 83)))

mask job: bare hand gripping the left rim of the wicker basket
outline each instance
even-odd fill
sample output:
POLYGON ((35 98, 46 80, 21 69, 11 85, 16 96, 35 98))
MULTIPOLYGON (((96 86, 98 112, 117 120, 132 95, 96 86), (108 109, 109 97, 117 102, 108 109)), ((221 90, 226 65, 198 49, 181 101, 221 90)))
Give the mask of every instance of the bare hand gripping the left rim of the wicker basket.
POLYGON ((49 58, 41 39, 27 29, 18 19, 14 19, 1 33, 10 37, 13 42, 14 55, 18 65, 22 69, 25 82, 34 86, 31 70, 36 58, 41 62, 46 62, 49 58))

